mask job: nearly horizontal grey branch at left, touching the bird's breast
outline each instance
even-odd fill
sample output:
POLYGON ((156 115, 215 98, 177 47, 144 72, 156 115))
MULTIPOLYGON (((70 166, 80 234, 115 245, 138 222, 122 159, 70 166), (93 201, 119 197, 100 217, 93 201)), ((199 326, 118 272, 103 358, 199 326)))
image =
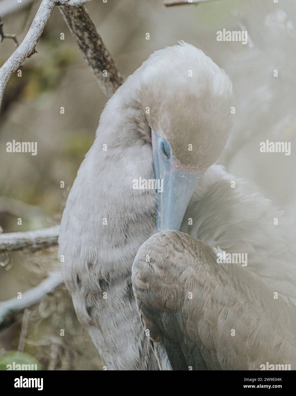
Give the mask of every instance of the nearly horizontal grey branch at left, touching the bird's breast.
POLYGON ((23 249, 37 251, 49 246, 55 246, 59 237, 59 227, 57 225, 36 231, 0 234, 0 253, 23 249))

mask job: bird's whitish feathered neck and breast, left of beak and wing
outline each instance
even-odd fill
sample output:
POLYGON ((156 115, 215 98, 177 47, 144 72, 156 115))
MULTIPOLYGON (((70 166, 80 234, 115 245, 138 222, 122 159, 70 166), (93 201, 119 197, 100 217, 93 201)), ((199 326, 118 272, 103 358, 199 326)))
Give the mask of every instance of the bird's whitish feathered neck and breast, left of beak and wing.
POLYGON ((102 358, 114 369, 147 365, 142 358, 148 355, 147 337, 131 288, 135 255, 156 232, 155 190, 133 188, 134 179, 154 178, 152 146, 142 137, 147 127, 136 101, 125 91, 122 100, 115 93, 61 221, 59 255, 65 257, 66 286, 80 322, 91 329, 102 358))

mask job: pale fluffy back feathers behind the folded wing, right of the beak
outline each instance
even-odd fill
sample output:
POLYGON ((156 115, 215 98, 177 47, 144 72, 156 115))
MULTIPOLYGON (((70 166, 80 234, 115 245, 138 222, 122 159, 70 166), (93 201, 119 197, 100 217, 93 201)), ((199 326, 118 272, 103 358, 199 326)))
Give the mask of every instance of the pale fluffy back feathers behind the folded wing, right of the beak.
POLYGON ((200 180, 181 231, 220 252, 247 254, 248 271, 296 302, 294 227, 269 199, 223 167, 212 166, 200 180))

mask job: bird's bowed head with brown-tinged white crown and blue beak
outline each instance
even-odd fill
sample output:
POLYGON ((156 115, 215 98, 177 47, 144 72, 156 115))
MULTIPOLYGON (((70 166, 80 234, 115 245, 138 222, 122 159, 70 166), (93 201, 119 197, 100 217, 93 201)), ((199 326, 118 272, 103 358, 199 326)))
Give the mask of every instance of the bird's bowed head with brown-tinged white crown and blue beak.
POLYGON ((232 84, 203 51, 185 43, 156 51, 140 69, 155 178, 163 179, 157 231, 179 230, 200 177, 228 139, 232 84))

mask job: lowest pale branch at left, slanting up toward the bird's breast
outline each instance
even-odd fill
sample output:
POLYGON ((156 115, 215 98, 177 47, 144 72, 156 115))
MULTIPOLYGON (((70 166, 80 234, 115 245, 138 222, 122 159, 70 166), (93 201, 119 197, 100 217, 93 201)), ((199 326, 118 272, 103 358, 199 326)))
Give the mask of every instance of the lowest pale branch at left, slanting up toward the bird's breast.
POLYGON ((62 283, 61 275, 51 275, 38 286, 23 293, 22 298, 14 297, 0 303, 0 330, 5 329, 15 322, 17 314, 25 308, 39 303, 48 293, 52 292, 62 283))

